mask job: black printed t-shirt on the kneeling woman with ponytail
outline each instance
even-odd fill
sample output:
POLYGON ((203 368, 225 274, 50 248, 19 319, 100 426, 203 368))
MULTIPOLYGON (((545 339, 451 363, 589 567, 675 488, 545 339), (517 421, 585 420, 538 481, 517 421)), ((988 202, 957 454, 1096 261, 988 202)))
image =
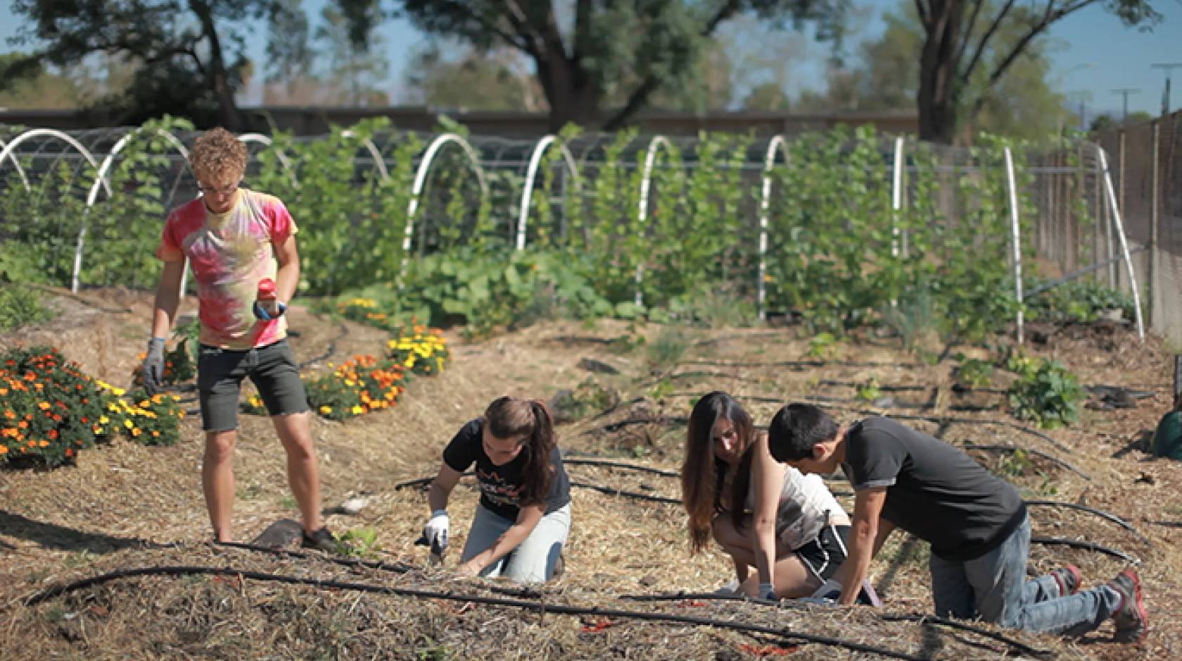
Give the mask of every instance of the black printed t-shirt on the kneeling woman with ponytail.
MULTIPOLYGON (((483 427, 483 418, 469 420, 461 427, 452 443, 443 449, 443 463, 461 473, 475 463, 476 479, 480 482, 480 504, 509 521, 517 521, 520 510, 521 470, 525 467, 526 452, 530 447, 522 447, 521 453, 512 462, 500 466, 494 465, 485 453, 485 444, 481 441, 483 427)), ((550 453, 550 464, 554 472, 551 473, 550 493, 546 495, 547 515, 571 502, 571 483, 566 477, 563 454, 557 445, 550 453)))

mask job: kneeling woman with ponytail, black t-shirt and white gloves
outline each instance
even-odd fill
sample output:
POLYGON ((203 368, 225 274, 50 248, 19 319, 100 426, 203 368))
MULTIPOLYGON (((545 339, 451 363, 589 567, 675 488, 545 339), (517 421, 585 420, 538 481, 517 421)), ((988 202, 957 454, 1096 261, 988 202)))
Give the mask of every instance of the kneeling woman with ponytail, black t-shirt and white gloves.
POLYGON ((431 518, 423 535, 434 547, 447 545, 448 496, 473 464, 480 504, 459 571, 548 581, 571 530, 571 496, 546 406, 502 397, 455 434, 427 496, 431 518))

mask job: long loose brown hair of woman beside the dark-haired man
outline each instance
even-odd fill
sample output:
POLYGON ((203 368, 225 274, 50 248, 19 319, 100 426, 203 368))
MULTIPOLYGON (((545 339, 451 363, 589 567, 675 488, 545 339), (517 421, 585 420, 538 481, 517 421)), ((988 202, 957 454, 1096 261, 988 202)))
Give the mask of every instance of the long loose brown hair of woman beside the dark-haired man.
POLYGON ((710 541, 710 523, 722 506, 722 483, 730 464, 714 456, 710 431, 717 420, 730 420, 739 444, 739 460, 730 485, 730 521, 740 528, 747 489, 751 486, 751 415, 729 394, 714 391, 694 405, 686 432, 686 459, 681 466, 681 502, 689 513, 690 550, 697 552, 710 541))

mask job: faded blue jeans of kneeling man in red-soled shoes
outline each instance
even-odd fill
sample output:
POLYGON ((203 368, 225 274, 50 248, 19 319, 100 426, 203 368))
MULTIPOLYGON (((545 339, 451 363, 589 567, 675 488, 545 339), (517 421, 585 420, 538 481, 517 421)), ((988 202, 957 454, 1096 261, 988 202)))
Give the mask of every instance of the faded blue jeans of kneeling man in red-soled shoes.
POLYGON ((1030 549, 1027 518, 1000 547, 979 558, 954 562, 933 554, 928 567, 936 615, 980 617, 1011 629, 1082 636, 1121 606, 1121 595, 1105 585, 1060 597, 1053 576, 1027 581, 1030 549))

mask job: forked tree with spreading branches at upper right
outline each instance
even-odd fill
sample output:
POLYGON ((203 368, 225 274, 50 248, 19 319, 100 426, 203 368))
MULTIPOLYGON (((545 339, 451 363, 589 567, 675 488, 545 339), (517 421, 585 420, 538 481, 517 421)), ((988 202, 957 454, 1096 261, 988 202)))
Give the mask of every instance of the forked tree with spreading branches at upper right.
MULTIPOLYGON (((1099 0, 915 0, 923 45, 916 105, 920 137, 950 143, 960 114, 975 114, 1018 58, 1052 24, 1099 0), (1008 40, 1001 34, 1012 34, 1008 40)), ((1151 27, 1161 14, 1149 0, 1104 0, 1125 25, 1151 27)))

